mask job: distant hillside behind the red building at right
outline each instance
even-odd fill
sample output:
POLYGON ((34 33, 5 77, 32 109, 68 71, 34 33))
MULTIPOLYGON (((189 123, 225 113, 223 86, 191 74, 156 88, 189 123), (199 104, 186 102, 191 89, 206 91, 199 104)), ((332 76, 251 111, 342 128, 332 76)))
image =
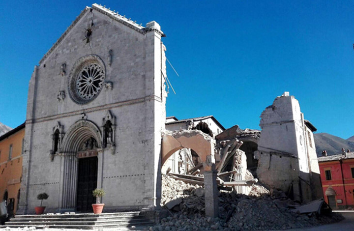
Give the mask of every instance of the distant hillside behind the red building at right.
POLYGON ((317 156, 322 156, 322 150, 326 150, 327 155, 339 154, 342 152, 342 147, 354 151, 354 141, 344 140, 328 133, 314 134, 314 138, 317 156))

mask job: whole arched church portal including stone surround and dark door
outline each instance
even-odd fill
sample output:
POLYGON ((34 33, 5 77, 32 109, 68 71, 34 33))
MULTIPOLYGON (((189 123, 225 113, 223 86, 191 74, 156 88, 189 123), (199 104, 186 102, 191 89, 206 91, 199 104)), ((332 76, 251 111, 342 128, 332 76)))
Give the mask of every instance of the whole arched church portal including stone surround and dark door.
POLYGON ((60 185, 62 211, 89 211, 94 203, 92 190, 101 185, 101 133, 88 120, 74 123, 60 146, 63 156, 60 185))

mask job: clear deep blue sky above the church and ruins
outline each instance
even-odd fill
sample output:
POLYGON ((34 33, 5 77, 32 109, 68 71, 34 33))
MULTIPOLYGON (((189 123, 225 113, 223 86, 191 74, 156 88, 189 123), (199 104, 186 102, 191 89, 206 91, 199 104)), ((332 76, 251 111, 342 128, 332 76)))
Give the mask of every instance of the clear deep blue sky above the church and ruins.
MULTIPOLYGON (((0 122, 26 118, 34 65, 92 1, 5 1, 0 9, 0 122)), ((354 1, 97 1, 167 37, 177 94, 167 115, 214 115, 259 129, 262 111, 290 91, 318 132, 354 135, 354 1)))

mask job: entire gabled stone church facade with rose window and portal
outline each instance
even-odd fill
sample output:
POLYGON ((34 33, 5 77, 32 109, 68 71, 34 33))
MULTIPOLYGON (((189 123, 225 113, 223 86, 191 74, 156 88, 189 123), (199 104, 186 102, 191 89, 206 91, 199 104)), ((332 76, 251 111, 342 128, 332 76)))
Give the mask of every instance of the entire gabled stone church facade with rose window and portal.
POLYGON ((159 206, 165 129, 165 46, 146 27, 86 7, 35 66, 29 82, 19 213, 46 192, 47 212, 159 206))

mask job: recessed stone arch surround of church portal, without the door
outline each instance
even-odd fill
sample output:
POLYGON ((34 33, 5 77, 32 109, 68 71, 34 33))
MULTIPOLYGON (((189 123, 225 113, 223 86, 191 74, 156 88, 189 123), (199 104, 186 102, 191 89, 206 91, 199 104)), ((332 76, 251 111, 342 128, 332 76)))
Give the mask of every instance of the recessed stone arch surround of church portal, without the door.
POLYGON ((102 182, 102 144, 99 128, 89 120, 79 120, 70 126, 60 145, 61 173, 60 177, 60 202, 62 211, 74 211, 76 209, 77 182, 78 182, 78 158, 77 152, 81 145, 88 139, 93 138, 97 142, 98 171, 97 186, 102 182))

